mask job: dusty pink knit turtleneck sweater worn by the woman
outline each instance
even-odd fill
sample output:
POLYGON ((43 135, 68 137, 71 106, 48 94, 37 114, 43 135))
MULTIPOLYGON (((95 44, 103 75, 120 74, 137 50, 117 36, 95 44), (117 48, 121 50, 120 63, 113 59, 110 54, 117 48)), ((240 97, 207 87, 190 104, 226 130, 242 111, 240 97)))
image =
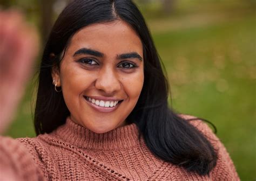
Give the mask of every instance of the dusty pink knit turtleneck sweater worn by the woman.
POLYGON ((201 121, 191 123, 218 149, 210 176, 187 172, 154 156, 143 140, 139 142, 135 124, 96 134, 68 118, 50 134, 17 140, 0 137, 0 180, 1 175, 10 180, 239 180, 212 130, 201 121))

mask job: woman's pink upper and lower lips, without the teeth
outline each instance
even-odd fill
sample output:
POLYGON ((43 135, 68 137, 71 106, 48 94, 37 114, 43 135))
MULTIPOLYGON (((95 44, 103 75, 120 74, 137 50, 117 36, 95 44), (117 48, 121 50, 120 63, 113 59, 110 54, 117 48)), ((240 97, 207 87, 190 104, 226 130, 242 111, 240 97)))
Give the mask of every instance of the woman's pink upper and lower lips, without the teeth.
MULTIPOLYGON (((115 107, 100 107, 100 106, 97 106, 93 103, 91 103, 90 101, 88 101, 86 99, 86 96, 84 95, 84 100, 95 110, 97 110, 98 112, 102 112, 102 113, 111 113, 113 112, 114 110, 116 110, 119 106, 120 106, 120 103, 118 103, 115 107)), ((116 98, 104 98, 104 97, 100 97, 100 96, 88 96, 89 98, 93 98, 93 99, 97 99, 97 100, 103 100, 103 101, 120 101, 122 99, 116 99, 116 98)), ((122 103, 122 102, 121 102, 122 103)))

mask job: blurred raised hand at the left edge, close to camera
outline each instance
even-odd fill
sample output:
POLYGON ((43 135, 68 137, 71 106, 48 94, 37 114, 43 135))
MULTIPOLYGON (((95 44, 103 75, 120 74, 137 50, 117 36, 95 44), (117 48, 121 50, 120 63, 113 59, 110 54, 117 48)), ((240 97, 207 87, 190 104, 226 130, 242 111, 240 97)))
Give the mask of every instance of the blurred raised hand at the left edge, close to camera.
POLYGON ((38 36, 15 10, 0 11, 0 134, 22 98, 38 52, 38 36))

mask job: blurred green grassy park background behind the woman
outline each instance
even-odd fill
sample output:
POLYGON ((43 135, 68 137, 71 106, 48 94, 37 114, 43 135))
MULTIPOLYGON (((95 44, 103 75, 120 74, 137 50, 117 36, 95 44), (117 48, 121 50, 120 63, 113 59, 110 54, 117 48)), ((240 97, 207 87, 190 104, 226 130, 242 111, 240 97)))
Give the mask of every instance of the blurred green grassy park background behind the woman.
MULTIPOLYGON (((41 34, 42 51, 54 20, 68 2, 0 0, 3 9, 24 12, 41 34)), ((170 105, 180 113, 211 121, 241 180, 255 180, 256 1, 135 2, 164 62, 172 92, 170 105)), ((39 60, 40 55, 35 73, 39 60)), ((32 120, 36 86, 33 76, 6 136, 35 136, 32 120)))

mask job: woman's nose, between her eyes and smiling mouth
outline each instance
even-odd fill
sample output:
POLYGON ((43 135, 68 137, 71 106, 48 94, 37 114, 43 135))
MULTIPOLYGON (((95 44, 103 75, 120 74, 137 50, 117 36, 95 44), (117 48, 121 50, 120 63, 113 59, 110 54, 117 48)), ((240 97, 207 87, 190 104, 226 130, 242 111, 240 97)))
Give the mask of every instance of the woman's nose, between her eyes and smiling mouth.
POLYGON ((121 89, 117 72, 112 68, 102 68, 99 71, 95 87, 105 94, 113 94, 121 89))

